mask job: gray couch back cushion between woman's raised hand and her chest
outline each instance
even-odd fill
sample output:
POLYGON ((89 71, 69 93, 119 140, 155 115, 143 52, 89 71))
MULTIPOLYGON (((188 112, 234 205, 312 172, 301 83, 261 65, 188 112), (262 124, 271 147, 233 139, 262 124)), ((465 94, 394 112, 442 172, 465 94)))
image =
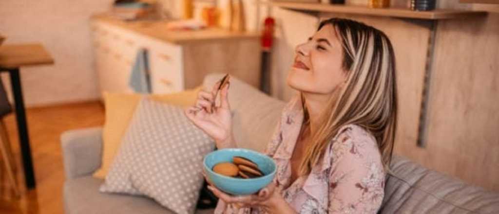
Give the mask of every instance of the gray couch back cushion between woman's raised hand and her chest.
MULTIPOLYGON (((203 88, 211 90, 224 74, 206 76, 203 88)), ((270 141, 285 103, 231 77, 229 104, 234 112, 233 131, 238 147, 263 152, 270 141)))

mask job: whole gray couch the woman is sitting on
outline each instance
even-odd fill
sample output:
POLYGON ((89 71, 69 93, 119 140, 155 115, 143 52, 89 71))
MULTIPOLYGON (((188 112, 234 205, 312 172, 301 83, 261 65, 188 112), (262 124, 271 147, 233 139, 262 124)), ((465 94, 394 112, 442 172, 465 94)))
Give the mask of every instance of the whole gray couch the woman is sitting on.
MULTIPOLYGON (((205 78, 211 88, 221 75, 205 78)), ((284 106, 233 78, 229 102, 234 110, 238 146, 263 151, 284 106)), ((145 197, 99 193, 102 180, 91 176, 101 163, 101 128, 70 130, 62 134, 64 155, 64 209, 66 214, 169 214, 145 197)), ((499 194, 467 185, 430 171, 402 157, 394 157, 381 214, 499 213, 499 194)), ((213 213, 198 210, 197 214, 213 213)))

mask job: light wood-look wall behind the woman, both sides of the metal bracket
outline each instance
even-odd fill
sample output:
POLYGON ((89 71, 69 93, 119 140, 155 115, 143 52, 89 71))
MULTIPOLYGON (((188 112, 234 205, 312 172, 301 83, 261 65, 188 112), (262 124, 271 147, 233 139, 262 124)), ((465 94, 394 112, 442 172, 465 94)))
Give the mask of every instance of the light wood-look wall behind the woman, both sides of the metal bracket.
MULTIPOLYGON (((440 8, 498 11, 497 6, 460 4, 459 0, 439 2, 440 8)), ((247 15, 256 21, 258 18, 251 17, 257 14, 254 1, 245 3, 247 15)), ((395 0, 392 4, 403 6, 405 1, 395 0)), ((264 16, 266 9, 261 11, 264 16)), ((295 92, 285 80, 294 47, 313 34, 318 18, 277 7, 270 8, 270 12, 277 22, 271 59, 272 95, 289 100, 295 92)), ((499 191, 499 13, 439 22, 426 148, 417 147, 416 139, 428 25, 387 17, 335 16, 373 25, 386 32, 394 44, 400 98, 395 152, 428 168, 499 191)))

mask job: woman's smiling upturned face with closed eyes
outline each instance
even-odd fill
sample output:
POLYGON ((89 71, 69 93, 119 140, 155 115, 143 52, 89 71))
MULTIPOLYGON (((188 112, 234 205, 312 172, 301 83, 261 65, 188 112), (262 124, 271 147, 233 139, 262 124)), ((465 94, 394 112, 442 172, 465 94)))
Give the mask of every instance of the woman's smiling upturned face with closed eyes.
POLYGON ((298 91, 332 94, 346 79, 340 39, 331 24, 323 26, 307 42, 296 46, 287 84, 298 91))

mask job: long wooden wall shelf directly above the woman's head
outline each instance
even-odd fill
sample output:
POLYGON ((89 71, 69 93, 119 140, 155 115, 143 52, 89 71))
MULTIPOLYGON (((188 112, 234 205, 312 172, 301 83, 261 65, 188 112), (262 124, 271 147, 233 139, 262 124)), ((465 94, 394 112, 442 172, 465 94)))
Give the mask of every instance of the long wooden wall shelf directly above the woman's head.
POLYGON ((296 2, 271 2, 271 5, 286 9, 311 11, 311 12, 335 12, 348 14, 362 14, 375 16, 388 16, 415 19, 457 19, 475 16, 485 16, 485 11, 467 11, 437 9, 432 11, 414 11, 406 8, 369 8, 363 6, 333 5, 323 3, 296 3, 296 2))

